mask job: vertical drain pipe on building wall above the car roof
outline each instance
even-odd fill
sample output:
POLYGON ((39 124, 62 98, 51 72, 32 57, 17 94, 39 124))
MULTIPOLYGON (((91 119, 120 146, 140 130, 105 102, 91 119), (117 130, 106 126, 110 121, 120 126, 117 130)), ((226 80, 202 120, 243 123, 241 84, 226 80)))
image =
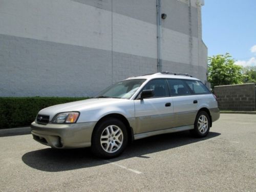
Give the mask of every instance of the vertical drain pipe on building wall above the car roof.
POLYGON ((162 18, 161 0, 157 0, 157 71, 162 72, 162 18))

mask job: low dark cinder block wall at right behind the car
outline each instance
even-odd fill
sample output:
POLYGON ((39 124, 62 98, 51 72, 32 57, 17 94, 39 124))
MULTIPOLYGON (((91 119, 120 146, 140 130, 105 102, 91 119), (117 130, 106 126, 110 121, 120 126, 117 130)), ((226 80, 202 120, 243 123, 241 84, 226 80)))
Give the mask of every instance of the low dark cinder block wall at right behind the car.
POLYGON ((255 111, 255 83, 215 86, 220 110, 255 111))

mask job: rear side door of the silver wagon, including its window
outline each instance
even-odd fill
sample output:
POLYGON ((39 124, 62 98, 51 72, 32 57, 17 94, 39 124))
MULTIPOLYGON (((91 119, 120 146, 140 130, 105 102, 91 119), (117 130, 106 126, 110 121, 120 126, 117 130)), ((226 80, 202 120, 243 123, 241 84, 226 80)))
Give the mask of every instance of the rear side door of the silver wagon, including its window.
POLYGON ((183 79, 167 79, 173 98, 175 127, 194 124, 198 110, 197 96, 183 79))

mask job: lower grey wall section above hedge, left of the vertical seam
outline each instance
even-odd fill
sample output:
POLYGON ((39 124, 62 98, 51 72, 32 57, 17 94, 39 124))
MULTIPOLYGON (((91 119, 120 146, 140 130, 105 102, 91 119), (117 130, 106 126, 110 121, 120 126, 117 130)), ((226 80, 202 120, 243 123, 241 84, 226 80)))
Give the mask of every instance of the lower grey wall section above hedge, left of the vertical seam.
POLYGON ((111 51, 0 35, 0 96, 91 96, 112 83, 111 51))

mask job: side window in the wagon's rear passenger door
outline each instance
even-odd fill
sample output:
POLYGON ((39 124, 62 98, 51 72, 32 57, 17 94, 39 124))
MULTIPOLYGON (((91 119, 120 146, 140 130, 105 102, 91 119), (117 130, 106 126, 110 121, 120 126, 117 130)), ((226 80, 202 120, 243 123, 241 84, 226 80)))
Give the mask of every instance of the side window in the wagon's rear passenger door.
POLYGON ((167 79, 170 95, 180 96, 180 95, 190 95, 190 91, 186 83, 181 79, 167 79))

